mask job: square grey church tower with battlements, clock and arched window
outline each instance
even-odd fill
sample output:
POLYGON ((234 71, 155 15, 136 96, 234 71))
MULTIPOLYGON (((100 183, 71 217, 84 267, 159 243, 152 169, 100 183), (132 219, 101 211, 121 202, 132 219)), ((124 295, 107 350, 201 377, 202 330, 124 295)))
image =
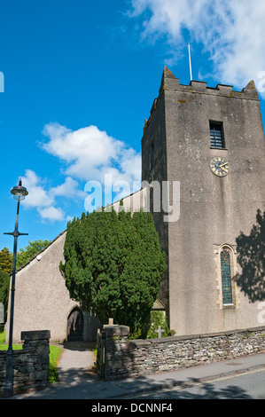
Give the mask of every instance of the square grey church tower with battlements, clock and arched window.
MULTIPOLYGON (((265 141, 253 82, 182 85, 164 68, 142 138, 142 180, 179 182, 180 216, 165 222, 153 211, 168 274, 160 301, 176 334, 259 327, 258 303, 249 303, 233 277, 236 239, 249 235, 264 211, 265 141)), ((153 194, 155 187, 153 187, 153 194)), ((152 200, 152 199, 151 199, 152 200)), ((154 195, 153 195, 154 201, 154 195)))

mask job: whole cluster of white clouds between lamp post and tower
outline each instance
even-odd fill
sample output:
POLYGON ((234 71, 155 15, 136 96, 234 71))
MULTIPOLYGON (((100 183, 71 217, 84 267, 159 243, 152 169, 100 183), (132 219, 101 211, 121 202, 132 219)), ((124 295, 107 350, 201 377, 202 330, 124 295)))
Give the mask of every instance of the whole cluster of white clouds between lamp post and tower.
POLYGON ((31 169, 27 169, 22 177, 22 184, 28 191, 25 207, 37 209, 43 220, 53 222, 72 218, 57 207, 58 200, 60 205, 65 202, 62 199, 85 201, 88 193, 80 189, 80 182, 98 181, 104 192, 107 179, 108 193, 104 202, 108 203, 112 202, 112 192, 120 192, 124 184, 127 185, 124 188, 126 195, 140 187, 141 154, 96 126, 69 130, 58 123, 50 123, 44 126, 43 135, 48 138, 41 145, 43 150, 64 163, 66 175, 63 184, 50 188, 31 169))

